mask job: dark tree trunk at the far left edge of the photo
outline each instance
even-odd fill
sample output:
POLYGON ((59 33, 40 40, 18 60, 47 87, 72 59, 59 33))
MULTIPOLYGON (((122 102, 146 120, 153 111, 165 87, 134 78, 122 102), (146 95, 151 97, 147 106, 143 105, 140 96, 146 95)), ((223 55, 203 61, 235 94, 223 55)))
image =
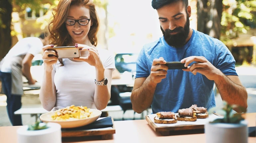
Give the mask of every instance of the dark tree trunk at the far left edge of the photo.
POLYGON ((0 60, 8 53, 11 47, 11 0, 0 1, 0 60))

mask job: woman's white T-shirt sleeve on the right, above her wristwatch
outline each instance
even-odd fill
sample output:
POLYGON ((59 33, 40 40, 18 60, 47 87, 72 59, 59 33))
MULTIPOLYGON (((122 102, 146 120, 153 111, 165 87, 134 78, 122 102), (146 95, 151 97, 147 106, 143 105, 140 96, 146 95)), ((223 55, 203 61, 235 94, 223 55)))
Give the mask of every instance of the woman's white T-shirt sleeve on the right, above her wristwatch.
POLYGON ((101 55, 102 64, 105 69, 115 69, 115 56, 114 54, 110 53, 108 50, 103 50, 101 55))

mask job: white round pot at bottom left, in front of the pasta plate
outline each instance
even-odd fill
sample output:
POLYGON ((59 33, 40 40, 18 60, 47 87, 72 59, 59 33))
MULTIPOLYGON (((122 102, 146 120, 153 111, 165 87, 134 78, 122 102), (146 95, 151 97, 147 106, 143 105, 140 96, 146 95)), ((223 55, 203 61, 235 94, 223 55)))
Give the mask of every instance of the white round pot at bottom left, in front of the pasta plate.
POLYGON ((61 125, 47 123, 48 128, 42 130, 28 130, 28 125, 18 128, 17 143, 62 143, 61 125))

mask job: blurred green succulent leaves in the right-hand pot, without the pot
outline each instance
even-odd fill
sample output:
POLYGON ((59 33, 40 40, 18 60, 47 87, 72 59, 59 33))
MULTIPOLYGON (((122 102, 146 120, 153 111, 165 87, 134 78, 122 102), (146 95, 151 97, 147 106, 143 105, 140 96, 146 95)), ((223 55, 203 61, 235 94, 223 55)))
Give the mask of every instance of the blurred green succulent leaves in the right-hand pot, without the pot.
MULTIPOLYGON (((215 119, 210 123, 231 123, 231 124, 239 124, 240 121, 244 120, 241 114, 235 114, 235 112, 232 112, 232 109, 239 108, 242 112, 246 112, 246 109, 237 106, 237 105, 230 105, 226 101, 223 101, 223 107, 218 111, 218 114, 222 115, 223 118, 215 119)), ((209 114, 216 111, 216 107, 213 107, 209 110, 209 114)))

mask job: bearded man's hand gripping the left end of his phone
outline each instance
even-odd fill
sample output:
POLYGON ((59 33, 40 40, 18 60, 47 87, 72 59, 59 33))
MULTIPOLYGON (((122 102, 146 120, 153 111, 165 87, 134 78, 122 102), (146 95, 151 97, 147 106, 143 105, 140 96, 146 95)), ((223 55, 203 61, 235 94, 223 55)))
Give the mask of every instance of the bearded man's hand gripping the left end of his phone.
POLYGON ((163 64, 166 64, 163 57, 153 60, 149 77, 155 84, 160 83, 162 79, 166 78, 168 67, 163 64))

